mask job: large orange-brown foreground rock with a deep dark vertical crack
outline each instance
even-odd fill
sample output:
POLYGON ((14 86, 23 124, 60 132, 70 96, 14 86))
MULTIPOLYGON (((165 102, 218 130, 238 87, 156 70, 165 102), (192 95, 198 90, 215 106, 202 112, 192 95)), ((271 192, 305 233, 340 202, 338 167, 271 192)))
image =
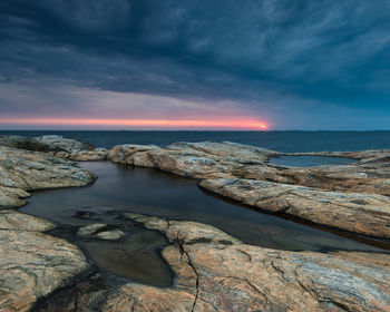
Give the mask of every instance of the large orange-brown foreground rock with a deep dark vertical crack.
MULTIPOLYGON (((75 311, 390 311, 390 255, 275 251, 205 224, 125 215, 168 237, 163 256, 174 285, 96 276, 74 289, 75 311)), ((38 311, 68 311, 61 298, 38 311)))

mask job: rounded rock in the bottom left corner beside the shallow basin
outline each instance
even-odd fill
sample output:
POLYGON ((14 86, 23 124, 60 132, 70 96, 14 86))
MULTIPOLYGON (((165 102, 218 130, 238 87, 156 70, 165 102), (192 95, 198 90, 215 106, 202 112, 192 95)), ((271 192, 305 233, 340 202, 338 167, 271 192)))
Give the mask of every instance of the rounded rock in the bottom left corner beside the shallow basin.
POLYGON ((41 233, 52 227, 38 217, 0 212, 0 311, 29 311, 88 270, 76 246, 41 233))

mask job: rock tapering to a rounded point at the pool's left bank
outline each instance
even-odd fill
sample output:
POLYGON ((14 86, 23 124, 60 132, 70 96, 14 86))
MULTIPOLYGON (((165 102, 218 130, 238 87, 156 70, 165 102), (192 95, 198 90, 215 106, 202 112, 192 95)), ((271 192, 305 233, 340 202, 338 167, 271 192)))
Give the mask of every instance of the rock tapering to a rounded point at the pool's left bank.
POLYGON ((0 207, 21 206, 29 191, 85 186, 96 177, 45 153, 0 146, 0 207))

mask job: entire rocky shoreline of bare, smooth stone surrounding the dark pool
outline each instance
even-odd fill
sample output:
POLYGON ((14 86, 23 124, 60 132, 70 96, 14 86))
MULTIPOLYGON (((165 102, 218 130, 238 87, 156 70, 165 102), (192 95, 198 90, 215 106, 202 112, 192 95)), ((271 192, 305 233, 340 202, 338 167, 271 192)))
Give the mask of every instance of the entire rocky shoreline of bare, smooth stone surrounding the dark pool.
MULTIPOLYGON (((390 238, 390 150, 293 154, 359 159, 310 168, 269 163, 281 155, 227 142, 106 150, 60 136, 0 136, 0 311, 390 311, 388 254, 276 251, 201 223, 120 213, 167 237, 162 255, 174 283, 158 287, 94 271, 77 246, 46 233, 56 224, 11 209, 29 192, 96 179, 74 162, 108 159, 198 179, 261 211, 390 238)), ((123 236, 101 224, 78 233, 123 236)))

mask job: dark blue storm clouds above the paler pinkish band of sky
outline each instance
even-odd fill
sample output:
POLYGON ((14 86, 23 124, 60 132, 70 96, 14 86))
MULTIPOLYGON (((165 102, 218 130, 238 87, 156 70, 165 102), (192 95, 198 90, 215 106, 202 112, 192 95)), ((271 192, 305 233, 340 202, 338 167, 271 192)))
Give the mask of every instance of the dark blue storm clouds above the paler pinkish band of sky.
POLYGON ((2 0, 0 82, 388 109, 389 14, 387 0, 2 0))

